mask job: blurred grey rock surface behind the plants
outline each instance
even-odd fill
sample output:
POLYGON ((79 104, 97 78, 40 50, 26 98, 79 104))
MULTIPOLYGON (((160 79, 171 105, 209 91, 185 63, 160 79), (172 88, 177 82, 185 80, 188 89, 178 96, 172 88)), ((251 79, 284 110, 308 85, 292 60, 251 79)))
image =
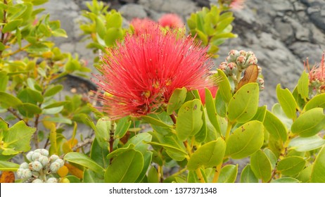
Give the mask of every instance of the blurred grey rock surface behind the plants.
MULTIPOLYGON (((125 24, 132 18, 157 20, 164 13, 177 13, 184 22, 189 15, 217 0, 112 0, 110 8, 122 13, 125 24)), ((97 54, 86 49, 81 42, 79 22, 85 0, 49 0, 44 4, 52 20, 60 20, 68 38, 56 39, 63 51, 79 53, 94 69, 92 62, 97 54)), ((265 77, 265 91, 261 105, 270 109, 276 103, 276 84, 293 89, 303 70, 303 61, 310 65, 319 63, 325 50, 325 1, 324 0, 246 0, 243 8, 235 10, 234 32, 236 39, 222 44, 216 66, 224 61, 231 49, 253 51, 265 77)), ((94 69, 94 72, 95 69, 94 69)), ((91 75, 89 75, 91 76, 91 75)), ((69 84, 74 86, 73 82, 69 84)), ((75 84, 75 86, 78 86, 75 84)))

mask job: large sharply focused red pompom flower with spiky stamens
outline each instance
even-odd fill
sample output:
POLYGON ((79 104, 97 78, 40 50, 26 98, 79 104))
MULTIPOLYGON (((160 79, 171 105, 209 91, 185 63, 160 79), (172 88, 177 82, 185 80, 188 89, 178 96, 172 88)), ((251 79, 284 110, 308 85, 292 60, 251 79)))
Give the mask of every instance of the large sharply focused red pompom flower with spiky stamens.
POLYGON ((124 43, 102 57, 103 75, 97 75, 103 111, 111 119, 153 113, 167 103, 176 88, 188 90, 212 86, 212 61, 207 48, 193 38, 177 38, 158 28, 141 36, 127 34, 124 43))

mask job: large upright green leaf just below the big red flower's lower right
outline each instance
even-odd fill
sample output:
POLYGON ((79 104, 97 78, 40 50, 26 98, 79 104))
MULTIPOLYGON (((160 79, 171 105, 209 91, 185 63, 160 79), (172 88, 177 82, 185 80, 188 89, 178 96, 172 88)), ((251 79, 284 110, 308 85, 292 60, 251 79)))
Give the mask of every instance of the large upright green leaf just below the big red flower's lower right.
POLYGON ((179 140, 184 141, 200 131, 203 125, 202 103, 198 99, 187 101, 179 109, 176 122, 176 133, 179 140))

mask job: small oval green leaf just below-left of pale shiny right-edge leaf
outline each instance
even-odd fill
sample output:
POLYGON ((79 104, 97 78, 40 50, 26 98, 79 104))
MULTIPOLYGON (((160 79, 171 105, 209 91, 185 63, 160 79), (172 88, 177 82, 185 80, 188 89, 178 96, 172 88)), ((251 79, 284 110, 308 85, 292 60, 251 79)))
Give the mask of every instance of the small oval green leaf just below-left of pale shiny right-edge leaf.
POLYGON ((280 171, 281 174, 286 176, 293 176, 301 172, 306 165, 304 158, 298 156, 291 156, 280 160, 276 165, 276 170, 280 171))

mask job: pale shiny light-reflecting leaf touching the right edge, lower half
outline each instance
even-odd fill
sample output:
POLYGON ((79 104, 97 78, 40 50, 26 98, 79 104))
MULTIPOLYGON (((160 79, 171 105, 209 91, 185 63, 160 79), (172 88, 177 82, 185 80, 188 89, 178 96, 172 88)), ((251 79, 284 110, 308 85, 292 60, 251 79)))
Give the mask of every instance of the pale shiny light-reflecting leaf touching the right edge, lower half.
POLYGON ((310 137, 300 137, 298 136, 295 139, 290 141, 289 147, 295 149, 295 151, 305 152, 312 151, 317 148, 320 148, 325 144, 325 140, 318 135, 310 137))

